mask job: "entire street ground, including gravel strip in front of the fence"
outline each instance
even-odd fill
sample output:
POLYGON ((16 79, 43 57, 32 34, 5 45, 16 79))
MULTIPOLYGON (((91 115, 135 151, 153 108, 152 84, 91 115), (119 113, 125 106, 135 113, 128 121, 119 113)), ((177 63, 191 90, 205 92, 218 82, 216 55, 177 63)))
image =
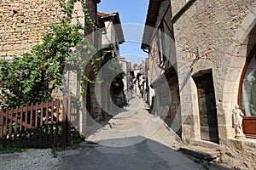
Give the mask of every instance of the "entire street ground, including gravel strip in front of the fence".
MULTIPOLYGON (((177 151, 183 145, 177 134, 159 116, 148 112, 148 105, 132 97, 104 127, 90 135, 79 147, 50 153, 49 149, 25 150, 0 155, 1 169, 60 170, 169 170, 206 169, 195 158, 177 151), (90 141, 90 142, 89 142, 90 141), (11 161, 14 160, 15 161, 11 161)), ((207 169, 227 169, 207 165, 207 169)))

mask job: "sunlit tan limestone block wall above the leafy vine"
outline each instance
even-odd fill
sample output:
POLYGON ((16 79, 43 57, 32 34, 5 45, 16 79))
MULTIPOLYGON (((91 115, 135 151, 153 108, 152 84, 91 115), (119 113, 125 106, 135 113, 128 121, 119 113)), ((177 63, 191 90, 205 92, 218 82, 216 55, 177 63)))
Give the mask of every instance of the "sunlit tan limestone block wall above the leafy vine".
POLYGON ((44 25, 60 23, 63 12, 57 0, 3 0, 0 17, 0 59, 11 59, 42 42, 44 25))

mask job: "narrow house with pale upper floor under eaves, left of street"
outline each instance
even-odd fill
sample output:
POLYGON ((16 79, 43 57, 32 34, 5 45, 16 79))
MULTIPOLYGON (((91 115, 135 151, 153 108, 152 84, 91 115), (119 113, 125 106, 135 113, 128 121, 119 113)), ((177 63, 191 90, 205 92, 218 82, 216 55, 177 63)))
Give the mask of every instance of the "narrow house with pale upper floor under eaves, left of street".
MULTIPOLYGON (((115 94, 114 89, 111 87, 111 83, 114 77, 110 75, 114 74, 108 67, 115 67, 119 65, 119 45, 125 42, 123 29, 119 13, 105 13, 98 11, 98 20, 101 24, 102 33, 102 117, 106 114, 112 114, 116 111, 118 106, 125 104, 125 95, 122 91, 120 94, 115 94)), ((121 65, 120 65, 121 68, 121 65)), ((122 70, 123 71, 123 70, 122 70)), ((121 72, 119 72, 121 73, 121 72)), ((117 76, 117 75, 115 75, 117 76)))

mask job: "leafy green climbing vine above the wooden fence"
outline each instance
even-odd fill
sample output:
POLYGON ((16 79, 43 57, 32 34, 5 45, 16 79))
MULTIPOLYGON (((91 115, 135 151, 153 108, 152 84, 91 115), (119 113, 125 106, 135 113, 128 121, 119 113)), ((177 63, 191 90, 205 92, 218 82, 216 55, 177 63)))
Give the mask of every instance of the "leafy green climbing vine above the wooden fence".
MULTIPOLYGON (((62 75, 67 65, 74 67, 73 70, 82 75, 81 85, 85 86, 87 82, 95 83, 84 73, 84 65, 90 61, 98 80, 96 61, 101 59, 100 55, 96 54, 95 48, 80 33, 85 27, 79 20, 76 25, 70 25, 75 2, 77 1, 69 0, 64 4, 60 1, 66 14, 65 19, 59 25, 47 25, 49 33, 44 35, 43 42, 35 45, 30 53, 23 54, 21 58, 15 57, 12 62, 0 61, 0 108, 30 105, 53 99, 53 90, 65 86, 62 83, 62 75)), ((81 3, 85 19, 96 29, 84 1, 81 3)))

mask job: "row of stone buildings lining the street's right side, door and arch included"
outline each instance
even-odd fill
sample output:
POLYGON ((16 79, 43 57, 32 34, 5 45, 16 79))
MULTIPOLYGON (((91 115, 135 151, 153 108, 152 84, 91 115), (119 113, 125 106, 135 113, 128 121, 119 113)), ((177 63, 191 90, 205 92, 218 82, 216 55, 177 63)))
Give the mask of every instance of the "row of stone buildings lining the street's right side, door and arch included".
POLYGON ((142 43, 156 112, 186 144, 220 150, 224 163, 251 169, 255 24, 254 0, 150 0, 142 43), (247 139, 235 138, 235 105, 247 139))

